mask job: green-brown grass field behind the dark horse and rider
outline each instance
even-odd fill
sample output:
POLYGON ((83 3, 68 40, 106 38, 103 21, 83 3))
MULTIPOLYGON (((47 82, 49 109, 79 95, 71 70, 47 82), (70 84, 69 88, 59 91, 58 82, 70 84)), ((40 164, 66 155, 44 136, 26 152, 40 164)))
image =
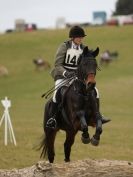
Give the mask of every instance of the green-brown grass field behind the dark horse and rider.
MULTIPOLYGON (((72 148, 71 159, 117 159, 133 161, 133 26, 86 28, 85 44, 117 50, 119 58, 97 73, 97 87, 101 95, 101 112, 112 119, 104 125, 98 147, 84 145, 80 132, 72 148)), ((4 146, 4 124, 0 127, 0 168, 22 168, 40 160, 40 152, 33 147, 43 133, 41 95, 53 86, 50 70, 37 72, 32 59, 45 58, 51 65, 58 45, 67 39, 68 30, 40 30, 31 33, 0 35, 0 64, 9 70, 0 77, 0 100, 7 96, 11 102, 10 116, 17 147, 4 146)), ((97 58, 98 59, 98 58, 97 58)), ((0 118, 4 108, 0 104, 0 118)), ((90 127, 90 134, 94 129, 90 127)), ((65 134, 56 138, 55 162, 64 159, 65 134)))

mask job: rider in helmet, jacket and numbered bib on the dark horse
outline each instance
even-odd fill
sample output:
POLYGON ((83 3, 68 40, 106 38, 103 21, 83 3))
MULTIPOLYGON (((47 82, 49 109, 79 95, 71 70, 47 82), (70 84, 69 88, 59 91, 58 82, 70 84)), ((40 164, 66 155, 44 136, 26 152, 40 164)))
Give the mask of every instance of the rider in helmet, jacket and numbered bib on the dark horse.
MULTIPOLYGON (((77 69, 77 61, 79 56, 83 52, 85 45, 82 44, 84 37, 86 36, 84 29, 80 26, 73 26, 69 31, 70 40, 62 43, 58 48, 55 56, 54 69, 51 72, 55 81, 55 88, 59 86, 64 79, 71 78, 74 75, 74 71, 77 69)), ((97 106, 99 111, 99 92, 95 87, 97 96, 97 106)), ((48 120, 46 126, 50 128, 56 127, 56 114, 58 111, 58 103, 56 100, 57 89, 54 91, 52 99, 52 112, 51 118, 48 120)), ((99 112, 102 123, 107 123, 110 120, 105 119, 99 112)))

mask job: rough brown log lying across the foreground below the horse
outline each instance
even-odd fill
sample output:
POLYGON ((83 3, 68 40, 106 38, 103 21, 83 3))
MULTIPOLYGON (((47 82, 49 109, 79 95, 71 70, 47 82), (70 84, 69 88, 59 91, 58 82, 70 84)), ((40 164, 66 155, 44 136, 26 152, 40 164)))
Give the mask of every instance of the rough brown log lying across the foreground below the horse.
POLYGON ((133 162, 87 159, 50 164, 40 161, 24 169, 0 170, 0 177, 133 177, 133 162))

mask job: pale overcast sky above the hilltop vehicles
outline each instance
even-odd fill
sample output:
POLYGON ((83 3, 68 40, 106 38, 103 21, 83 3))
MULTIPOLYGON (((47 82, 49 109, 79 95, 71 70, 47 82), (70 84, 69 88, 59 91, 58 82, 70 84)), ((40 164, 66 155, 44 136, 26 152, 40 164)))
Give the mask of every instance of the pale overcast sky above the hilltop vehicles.
POLYGON ((36 23, 38 28, 54 28, 58 18, 66 23, 92 22, 94 11, 105 11, 107 18, 117 0, 0 0, 0 31, 14 29, 16 19, 36 23))

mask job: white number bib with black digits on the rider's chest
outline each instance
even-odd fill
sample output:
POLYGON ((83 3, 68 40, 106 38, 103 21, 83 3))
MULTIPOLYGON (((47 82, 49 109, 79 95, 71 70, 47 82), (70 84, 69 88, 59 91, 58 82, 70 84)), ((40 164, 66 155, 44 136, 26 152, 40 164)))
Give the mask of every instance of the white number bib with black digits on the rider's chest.
POLYGON ((82 52, 82 49, 68 49, 64 60, 64 67, 67 69, 77 69, 78 59, 82 52))

